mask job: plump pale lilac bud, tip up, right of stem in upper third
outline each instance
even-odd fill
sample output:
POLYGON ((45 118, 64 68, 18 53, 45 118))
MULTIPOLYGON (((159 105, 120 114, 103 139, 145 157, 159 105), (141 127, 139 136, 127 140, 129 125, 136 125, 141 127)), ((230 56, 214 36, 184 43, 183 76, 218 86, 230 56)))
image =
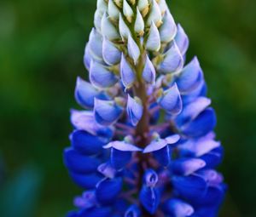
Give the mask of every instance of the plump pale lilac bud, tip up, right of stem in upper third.
POLYGON ((164 54, 164 60, 160 63, 161 73, 173 73, 183 68, 183 56, 177 48, 177 44, 172 42, 171 48, 164 54))

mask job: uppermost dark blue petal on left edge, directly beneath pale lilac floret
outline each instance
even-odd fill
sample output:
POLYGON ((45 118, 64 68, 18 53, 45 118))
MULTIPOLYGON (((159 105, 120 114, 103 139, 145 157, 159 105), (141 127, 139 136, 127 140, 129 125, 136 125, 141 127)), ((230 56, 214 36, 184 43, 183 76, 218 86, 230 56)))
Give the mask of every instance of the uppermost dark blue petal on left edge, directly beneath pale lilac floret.
POLYGON ((76 130, 71 134, 72 146, 75 150, 84 155, 96 155, 102 152, 102 142, 97 136, 89 134, 83 130, 76 130))

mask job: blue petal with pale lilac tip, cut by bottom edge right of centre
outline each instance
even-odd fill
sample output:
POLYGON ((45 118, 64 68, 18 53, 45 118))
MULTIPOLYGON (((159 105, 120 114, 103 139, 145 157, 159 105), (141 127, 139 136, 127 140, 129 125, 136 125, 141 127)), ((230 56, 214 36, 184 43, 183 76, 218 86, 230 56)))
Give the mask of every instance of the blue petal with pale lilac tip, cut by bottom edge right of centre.
POLYGON ((168 200, 164 205, 164 210, 173 217, 187 217, 194 213, 194 208, 189 203, 177 198, 168 200))

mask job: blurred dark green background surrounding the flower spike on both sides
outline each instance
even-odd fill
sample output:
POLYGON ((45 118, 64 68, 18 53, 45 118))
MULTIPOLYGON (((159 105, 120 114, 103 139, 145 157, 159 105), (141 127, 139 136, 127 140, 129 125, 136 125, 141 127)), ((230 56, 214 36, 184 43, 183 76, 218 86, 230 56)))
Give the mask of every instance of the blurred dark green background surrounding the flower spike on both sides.
MULTIPOLYGON (((229 184, 220 216, 256 216, 256 1, 172 0, 218 114, 229 184)), ((55 217, 80 190, 68 178, 69 109, 94 0, 0 2, 0 216, 55 217)))

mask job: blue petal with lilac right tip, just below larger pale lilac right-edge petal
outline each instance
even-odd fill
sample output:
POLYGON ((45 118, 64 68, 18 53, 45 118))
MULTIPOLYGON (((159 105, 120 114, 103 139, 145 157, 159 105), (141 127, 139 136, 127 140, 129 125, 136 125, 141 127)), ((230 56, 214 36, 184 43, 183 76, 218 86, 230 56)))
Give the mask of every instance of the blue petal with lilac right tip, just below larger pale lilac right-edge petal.
POLYGON ((207 163, 199 158, 183 158, 172 162, 172 172, 178 175, 189 175, 204 168, 207 163))

